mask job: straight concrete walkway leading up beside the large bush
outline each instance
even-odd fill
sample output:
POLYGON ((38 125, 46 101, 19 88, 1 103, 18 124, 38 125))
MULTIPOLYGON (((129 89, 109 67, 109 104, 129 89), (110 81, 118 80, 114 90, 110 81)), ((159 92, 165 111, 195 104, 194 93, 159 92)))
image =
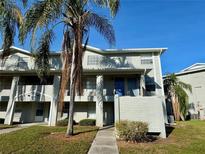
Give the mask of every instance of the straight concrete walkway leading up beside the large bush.
POLYGON ((114 127, 98 131, 88 154, 118 154, 114 127))

